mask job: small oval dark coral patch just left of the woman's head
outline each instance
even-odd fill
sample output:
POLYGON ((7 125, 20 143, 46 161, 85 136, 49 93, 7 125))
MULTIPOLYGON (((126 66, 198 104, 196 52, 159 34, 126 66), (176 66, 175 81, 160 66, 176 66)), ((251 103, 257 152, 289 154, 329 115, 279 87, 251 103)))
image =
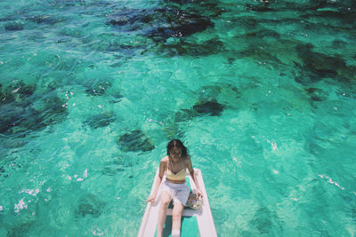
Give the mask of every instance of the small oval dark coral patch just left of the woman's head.
POLYGON ((134 130, 124 134, 117 139, 117 145, 125 152, 147 152, 155 148, 150 138, 148 138, 142 130, 134 130))

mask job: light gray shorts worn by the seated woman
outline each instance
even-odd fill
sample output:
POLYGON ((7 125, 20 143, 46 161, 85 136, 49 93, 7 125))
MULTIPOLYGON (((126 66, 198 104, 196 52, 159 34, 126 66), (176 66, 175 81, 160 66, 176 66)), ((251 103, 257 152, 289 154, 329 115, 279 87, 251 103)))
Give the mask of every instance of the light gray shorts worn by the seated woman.
POLYGON ((187 204, 189 195, 190 195, 190 187, 184 184, 174 184, 168 182, 167 180, 163 181, 161 184, 161 192, 166 191, 171 194, 171 198, 173 199, 173 203, 175 201, 179 201, 183 206, 187 204))

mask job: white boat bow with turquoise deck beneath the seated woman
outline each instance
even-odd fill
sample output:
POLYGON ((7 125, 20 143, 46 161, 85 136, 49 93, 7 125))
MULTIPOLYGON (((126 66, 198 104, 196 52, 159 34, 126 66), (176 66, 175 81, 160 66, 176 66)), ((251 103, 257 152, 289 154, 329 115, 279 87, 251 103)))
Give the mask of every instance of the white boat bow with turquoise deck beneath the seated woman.
MULTIPOLYGON (((156 176, 153 181, 150 194, 153 193, 153 189, 156 186, 158 179, 159 169, 156 171, 156 176)), ((204 185, 203 177, 201 171, 194 169, 197 174, 198 184, 201 191, 203 192, 203 202, 200 209, 189 209, 185 208, 182 212, 182 230, 181 236, 203 236, 203 237, 216 237, 216 230, 214 225, 213 215, 210 209, 209 201, 206 194, 206 186, 204 185)), ((166 174, 164 175, 162 182, 166 179, 166 174)), ((192 193, 196 193, 197 187, 194 184, 193 179, 190 177, 190 173, 186 171, 185 179, 187 180, 187 185, 190 186, 192 193)), ((158 209, 160 205, 160 197, 158 195, 157 199, 146 205, 146 209, 142 218, 142 223, 138 237, 153 237, 156 236, 156 229, 158 224, 158 209)), ((172 227, 172 208, 167 209, 166 224, 163 230, 164 236, 170 236, 172 227), (166 234, 165 234, 166 233, 166 234)))

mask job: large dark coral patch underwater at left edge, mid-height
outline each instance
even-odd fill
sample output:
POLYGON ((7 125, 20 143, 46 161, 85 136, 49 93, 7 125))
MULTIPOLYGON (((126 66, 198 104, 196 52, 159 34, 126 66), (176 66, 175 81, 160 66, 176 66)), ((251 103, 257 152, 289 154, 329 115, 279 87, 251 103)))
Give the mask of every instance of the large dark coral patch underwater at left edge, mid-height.
POLYGON ((67 116, 64 101, 55 91, 35 97, 35 86, 14 82, 0 95, 0 133, 23 134, 29 130, 43 130, 46 126, 61 122, 67 116))

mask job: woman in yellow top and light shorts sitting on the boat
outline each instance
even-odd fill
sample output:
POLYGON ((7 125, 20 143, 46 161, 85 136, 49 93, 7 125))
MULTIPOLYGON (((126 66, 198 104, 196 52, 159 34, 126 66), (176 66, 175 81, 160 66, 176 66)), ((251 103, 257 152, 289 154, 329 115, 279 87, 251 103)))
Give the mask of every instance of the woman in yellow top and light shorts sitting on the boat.
POLYGON ((155 201, 158 194, 158 187, 162 182, 163 175, 166 171, 166 180, 162 183, 161 189, 161 205, 158 212, 158 230, 157 237, 162 236, 163 227, 166 221, 166 209, 174 200, 174 208, 172 213, 172 237, 180 236, 181 234, 181 218, 182 210, 190 195, 190 188, 185 184, 185 170, 190 171, 190 176, 193 178, 197 186, 197 199, 203 194, 198 185, 197 176, 191 166, 190 157, 187 154, 187 148, 182 144, 182 141, 174 139, 167 145, 167 156, 162 158, 159 163, 159 174, 153 194, 147 199, 155 201))

